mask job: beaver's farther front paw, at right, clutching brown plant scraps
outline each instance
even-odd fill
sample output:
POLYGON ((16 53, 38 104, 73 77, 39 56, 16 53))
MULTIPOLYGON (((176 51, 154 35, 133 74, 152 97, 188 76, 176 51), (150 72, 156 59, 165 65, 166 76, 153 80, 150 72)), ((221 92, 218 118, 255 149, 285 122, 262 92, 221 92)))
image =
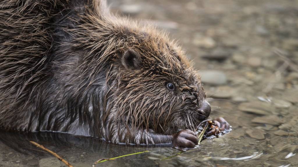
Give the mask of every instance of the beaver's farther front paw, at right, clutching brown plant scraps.
POLYGON ((229 130, 230 130, 230 124, 224 118, 220 117, 212 121, 212 125, 209 127, 209 130, 206 136, 207 137, 212 135, 220 136, 229 130))

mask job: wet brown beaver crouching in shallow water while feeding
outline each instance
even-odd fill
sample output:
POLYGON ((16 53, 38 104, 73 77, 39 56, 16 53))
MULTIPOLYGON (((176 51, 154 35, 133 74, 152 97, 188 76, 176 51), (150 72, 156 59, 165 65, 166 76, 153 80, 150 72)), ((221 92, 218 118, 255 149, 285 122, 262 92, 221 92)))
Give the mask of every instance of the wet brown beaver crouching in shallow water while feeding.
POLYGON ((163 31, 111 14, 103 0, 3 0, 0 19, 1 129, 197 144, 211 107, 163 31))

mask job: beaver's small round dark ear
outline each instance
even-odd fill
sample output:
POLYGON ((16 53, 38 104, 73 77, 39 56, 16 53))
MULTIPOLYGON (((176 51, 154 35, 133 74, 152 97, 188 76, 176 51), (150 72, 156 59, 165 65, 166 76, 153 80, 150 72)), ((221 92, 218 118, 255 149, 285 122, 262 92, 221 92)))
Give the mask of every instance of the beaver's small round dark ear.
POLYGON ((132 49, 125 51, 122 57, 122 64, 126 68, 131 70, 138 68, 140 65, 140 62, 141 62, 141 59, 139 54, 132 49))

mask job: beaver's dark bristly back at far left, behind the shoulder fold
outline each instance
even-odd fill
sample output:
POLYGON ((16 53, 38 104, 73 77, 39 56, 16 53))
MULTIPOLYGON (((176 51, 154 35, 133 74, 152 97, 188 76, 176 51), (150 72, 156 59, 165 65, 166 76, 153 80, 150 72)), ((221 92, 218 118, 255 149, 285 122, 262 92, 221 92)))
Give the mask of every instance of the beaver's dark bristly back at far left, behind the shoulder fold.
MULTIPOLYGON (((45 89, 54 82, 59 42, 67 38, 58 24, 70 10, 59 0, 4 0, 0 2, 0 125, 29 130, 45 89)), ((77 3, 73 1, 72 4, 77 3)), ((69 4, 67 4, 69 5, 69 4)))

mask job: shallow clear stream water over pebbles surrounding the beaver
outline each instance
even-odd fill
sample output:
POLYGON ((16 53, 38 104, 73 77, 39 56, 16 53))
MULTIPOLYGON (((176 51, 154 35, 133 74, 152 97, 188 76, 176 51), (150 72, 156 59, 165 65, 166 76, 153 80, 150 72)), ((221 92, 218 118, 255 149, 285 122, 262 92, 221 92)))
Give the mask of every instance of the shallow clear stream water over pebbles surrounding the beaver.
POLYGON ((112 11, 148 19, 179 39, 213 98, 211 117, 224 117, 233 130, 163 161, 179 151, 67 134, 1 132, 0 166, 63 166, 30 140, 73 166, 145 150, 151 152, 97 166, 298 166, 297 0, 109 3, 112 11))

